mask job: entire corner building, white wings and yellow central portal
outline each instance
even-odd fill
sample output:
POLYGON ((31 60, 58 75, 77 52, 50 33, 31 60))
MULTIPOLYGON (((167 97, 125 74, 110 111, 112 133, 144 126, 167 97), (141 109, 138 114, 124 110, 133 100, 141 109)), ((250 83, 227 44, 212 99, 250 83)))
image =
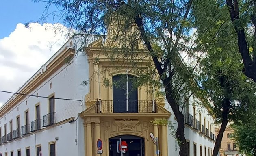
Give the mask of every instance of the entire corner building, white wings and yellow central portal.
MULTIPOLYGON (((0 109, 1 154, 97 156, 96 141, 102 139, 102 156, 115 156, 116 140, 122 137, 129 147, 125 156, 156 156, 149 135, 153 132, 159 137, 160 156, 178 156, 178 142, 170 128, 150 123, 168 119, 176 128, 169 104, 154 100, 145 86, 135 91, 135 103, 117 103, 119 90, 100 81, 103 76, 118 79, 127 74, 129 65, 121 63, 119 71, 110 65, 98 47, 102 40, 91 43, 85 53, 78 52, 74 43, 74 38, 69 39, 0 109), (97 75, 98 69, 105 71, 103 76, 97 75), (122 110, 126 104, 135 107, 122 110)), ((141 69, 149 64, 145 60, 141 69)), ((135 77, 132 72, 129 76, 135 77)), ((208 114, 208 109, 192 104, 184 111, 190 156, 212 154, 214 120, 208 114)))

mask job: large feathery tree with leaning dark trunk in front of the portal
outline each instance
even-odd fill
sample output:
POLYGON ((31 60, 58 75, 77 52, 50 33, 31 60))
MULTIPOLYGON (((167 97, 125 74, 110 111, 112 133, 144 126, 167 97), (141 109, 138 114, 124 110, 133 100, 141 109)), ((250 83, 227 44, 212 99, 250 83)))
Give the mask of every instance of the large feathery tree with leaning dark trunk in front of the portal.
MULTIPOLYGON (((34 0, 38 1, 41 0, 34 0)), ((152 87, 159 85, 164 88, 165 98, 178 122, 176 138, 180 145, 179 154, 188 156, 182 110, 186 101, 184 97, 190 97, 197 85, 190 85, 191 79, 187 78, 195 68, 186 67, 180 60, 179 52, 189 55, 193 51, 193 46, 187 46, 190 41, 193 0, 42 1, 47 2, 47 5, 41 20, 48 16, 47 11, 51 5, 56 6, 59 10, 54 15, 61 17, 65 25, 76 30, 77 34, 93 35, 108 42, 111 46, 106 48, 112 48, 113 51, 112 54, 106 54, 109 58, 115 58, 111 55, 117 55, 118 52, 122 53, 121 58, 126 56, 126 61, 132 61, 138 75, 138 85, 150 83, 152 87), (136 70, 135 59, 141 42, 153 61, 153 67, 143 72, 136 70), (156 80, 152 81, 152 75, 157 75, 156 80)), ((87 37, 82 40, 83 43, 87 41, 87 37)))

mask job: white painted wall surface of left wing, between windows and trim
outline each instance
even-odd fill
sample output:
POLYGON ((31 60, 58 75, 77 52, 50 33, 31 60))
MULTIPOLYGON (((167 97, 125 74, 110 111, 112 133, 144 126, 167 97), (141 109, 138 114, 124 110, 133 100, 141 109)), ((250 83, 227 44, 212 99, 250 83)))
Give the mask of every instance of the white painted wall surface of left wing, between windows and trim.
MULTIPOLYGON (((65 46, 69 46, 70 39, 65 46)), ((65 48, 63 46, 61 50, 65 48)), ((73 46, 72 46, 73 47, 73 46)), ((75 46, 76 47, 76 46, 75 46)), ((59 52, 61 51, 59 50, 59 52)), ((57 52, 50 60, 59 54, 57 52)), ((48 64, 42 66, 41 69, 46 70, 44 67, 48 64)), ((38 72, 41 72, 39 69, 38 72)), ((35 74, 37 75, 37 74, 35 74)), ((38 131, 33 134, 27 134, 18 139, 14 139, 8 143, 0 145, 0 152, 5 153, 13 150, 14 156, 17 156, 17 149, 21 149, 22 155, 25 155, 26 147, 30 147, 30 155, 35 156, 35 145, 41 144, 42 154, 48 155, 48 143, 50 141, 55 141, 55 137, 59 137, 56 140, 56 153, 59 156, 72 155, 72 156, 82 156, 84 155, 84 128, 83 120, 78 117, 78 113, 81 113, 84 109, 84 96, 89 92, 89 87, 81 85, 83 80, 89 79, 89 65, 87 61, 87 56, 83 53, 76 53, 73 62, 70 65, 64 65, 56 71, 50 78, 43 82, 37 89, 31 91, 30 94, 39 96, 49 96, 54 93, 55 98, 67 98, 67 99, 77 99, 82 101, 74 100, 54 100, 55 112, 56 112, 56 123, 68 119, 70 117, 75 117, 76 121, 72 123, 65 123, 55 127, 45 128, 43 131, 38 131), (50 89, 50 83, 52 83, 52 88, 50 89), (79 137, 78 137, 79 136, 79 137), (67 148, 68 146, 68 148, 67 148), (80 148, 78 148, 80 147, 80 148)), ((15 95, 13 95, 15 97, 15 95)), ((13 98, 12 97, 12 98, 13 98)), ((7 125, 7 133, 10 132, 9 122, 13 121, 13 130, 17 129, 16 117, 20 115, 20 126, 25 125, 25 111, 29 110, 29 121, 35 120, 35 104, 40 102, 40 118, 41 126, 43 126, 43 115, 48 114, 48 99, 47 98, 37 98, 37 97, 26 97, 22 102, 17 104, 11 109, 7 114, 0 117, 0 127, 1 134, 4 135, 4 125, 7 125), (27 101, 27 102, 26 102, 27 101), (27 104, 26 104, 27 103, 27 104)), ((21 127, 20 127, 21 128, 21 127)), ((43 129, 43 127, 41 127, 43 129)))

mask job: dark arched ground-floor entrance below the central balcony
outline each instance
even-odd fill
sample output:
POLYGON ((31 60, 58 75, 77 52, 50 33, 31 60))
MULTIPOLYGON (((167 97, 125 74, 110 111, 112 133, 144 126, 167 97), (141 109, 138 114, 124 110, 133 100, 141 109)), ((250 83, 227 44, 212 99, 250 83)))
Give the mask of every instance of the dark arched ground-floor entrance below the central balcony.
POLYGON ((134 135, 120 135, 109 138, 109 156, 121 156, 117 153, 117 141, 120 138, 128 144, 128 152, 124 156, 145 156, 144 138, 134 135))

